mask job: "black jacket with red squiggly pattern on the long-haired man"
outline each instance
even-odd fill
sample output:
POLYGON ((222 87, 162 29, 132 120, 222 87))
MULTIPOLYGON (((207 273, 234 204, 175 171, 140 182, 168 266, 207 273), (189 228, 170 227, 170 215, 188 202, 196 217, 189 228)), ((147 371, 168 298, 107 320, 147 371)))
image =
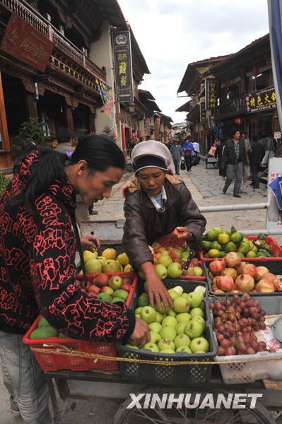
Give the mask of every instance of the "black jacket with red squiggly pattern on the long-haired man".
POLYGON ((20 163, 0 197, 0 329, 25 334, 41 312, 64 334, 114 341, 134 330, 134 312, 108 305, 76 287, 76 239, 70 211, 74 187, 56 180, 35 201, 35 215, 11 203, 25 189, 38 153, 20 163))

